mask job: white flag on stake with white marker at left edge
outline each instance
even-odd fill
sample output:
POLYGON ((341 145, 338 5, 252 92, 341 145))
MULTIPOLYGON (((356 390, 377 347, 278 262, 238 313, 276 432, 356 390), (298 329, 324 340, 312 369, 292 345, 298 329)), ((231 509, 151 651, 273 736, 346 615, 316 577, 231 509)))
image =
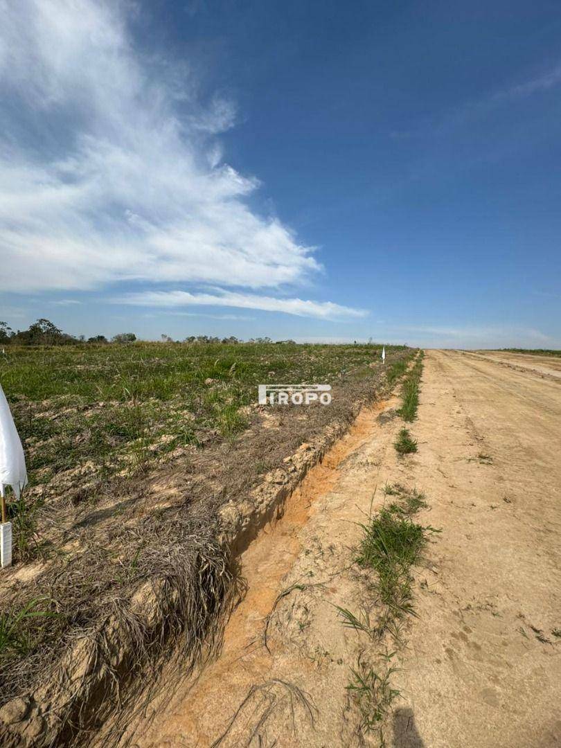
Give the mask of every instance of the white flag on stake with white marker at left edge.
POLYGON ((27 470, 23 456, 22 442, 13 423, 10 406, 0 384, 0 496, 2 521, 0 524, 0 566, 10 566, 12 562, 12 524, 7 521, 5 488, 11 485, 19 499, 22 488, 27 484, 27 470))

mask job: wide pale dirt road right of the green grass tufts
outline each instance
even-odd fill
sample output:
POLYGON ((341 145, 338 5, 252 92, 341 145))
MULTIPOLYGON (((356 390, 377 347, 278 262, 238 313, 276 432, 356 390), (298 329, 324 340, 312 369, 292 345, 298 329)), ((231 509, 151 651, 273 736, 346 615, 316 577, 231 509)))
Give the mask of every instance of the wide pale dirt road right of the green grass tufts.
POLYGON ((561 382, 488 358, 426 357, 411 479, 443 532, 399 684, 427 747, 559 746, 561 382))

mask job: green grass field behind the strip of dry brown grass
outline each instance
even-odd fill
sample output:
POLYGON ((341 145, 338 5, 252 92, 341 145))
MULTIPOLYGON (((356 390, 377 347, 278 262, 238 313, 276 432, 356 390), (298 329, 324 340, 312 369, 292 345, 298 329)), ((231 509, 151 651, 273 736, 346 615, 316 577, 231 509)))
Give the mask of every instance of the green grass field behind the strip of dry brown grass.
POLYGON ((90 478, 134 473, 177 447, 234 438, 248 425, 257 384, 360 378, 379 352, 249 343, 8 346, 0 382, 25 444, 30 488, 45 494, 67 471, 75 479, 65 488, 78 489, 81 466, 90 478))

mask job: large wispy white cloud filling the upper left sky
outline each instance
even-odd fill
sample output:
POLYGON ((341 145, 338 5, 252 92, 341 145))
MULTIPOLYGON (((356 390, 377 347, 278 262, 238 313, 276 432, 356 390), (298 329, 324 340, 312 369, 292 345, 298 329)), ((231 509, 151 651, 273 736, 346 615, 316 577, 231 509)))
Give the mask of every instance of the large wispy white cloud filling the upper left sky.
MULTIPOLYGON (((0 0, 4 288, 302 283, 321 269, 313 248, 257 215, 258 181, 221 161, 215 134, 233 125, 232 103, 203 107, 185 65, 135 52, 127 7, 0 0)), ((331 309, 269 297, 251 308, 275 304, 331 309)))

